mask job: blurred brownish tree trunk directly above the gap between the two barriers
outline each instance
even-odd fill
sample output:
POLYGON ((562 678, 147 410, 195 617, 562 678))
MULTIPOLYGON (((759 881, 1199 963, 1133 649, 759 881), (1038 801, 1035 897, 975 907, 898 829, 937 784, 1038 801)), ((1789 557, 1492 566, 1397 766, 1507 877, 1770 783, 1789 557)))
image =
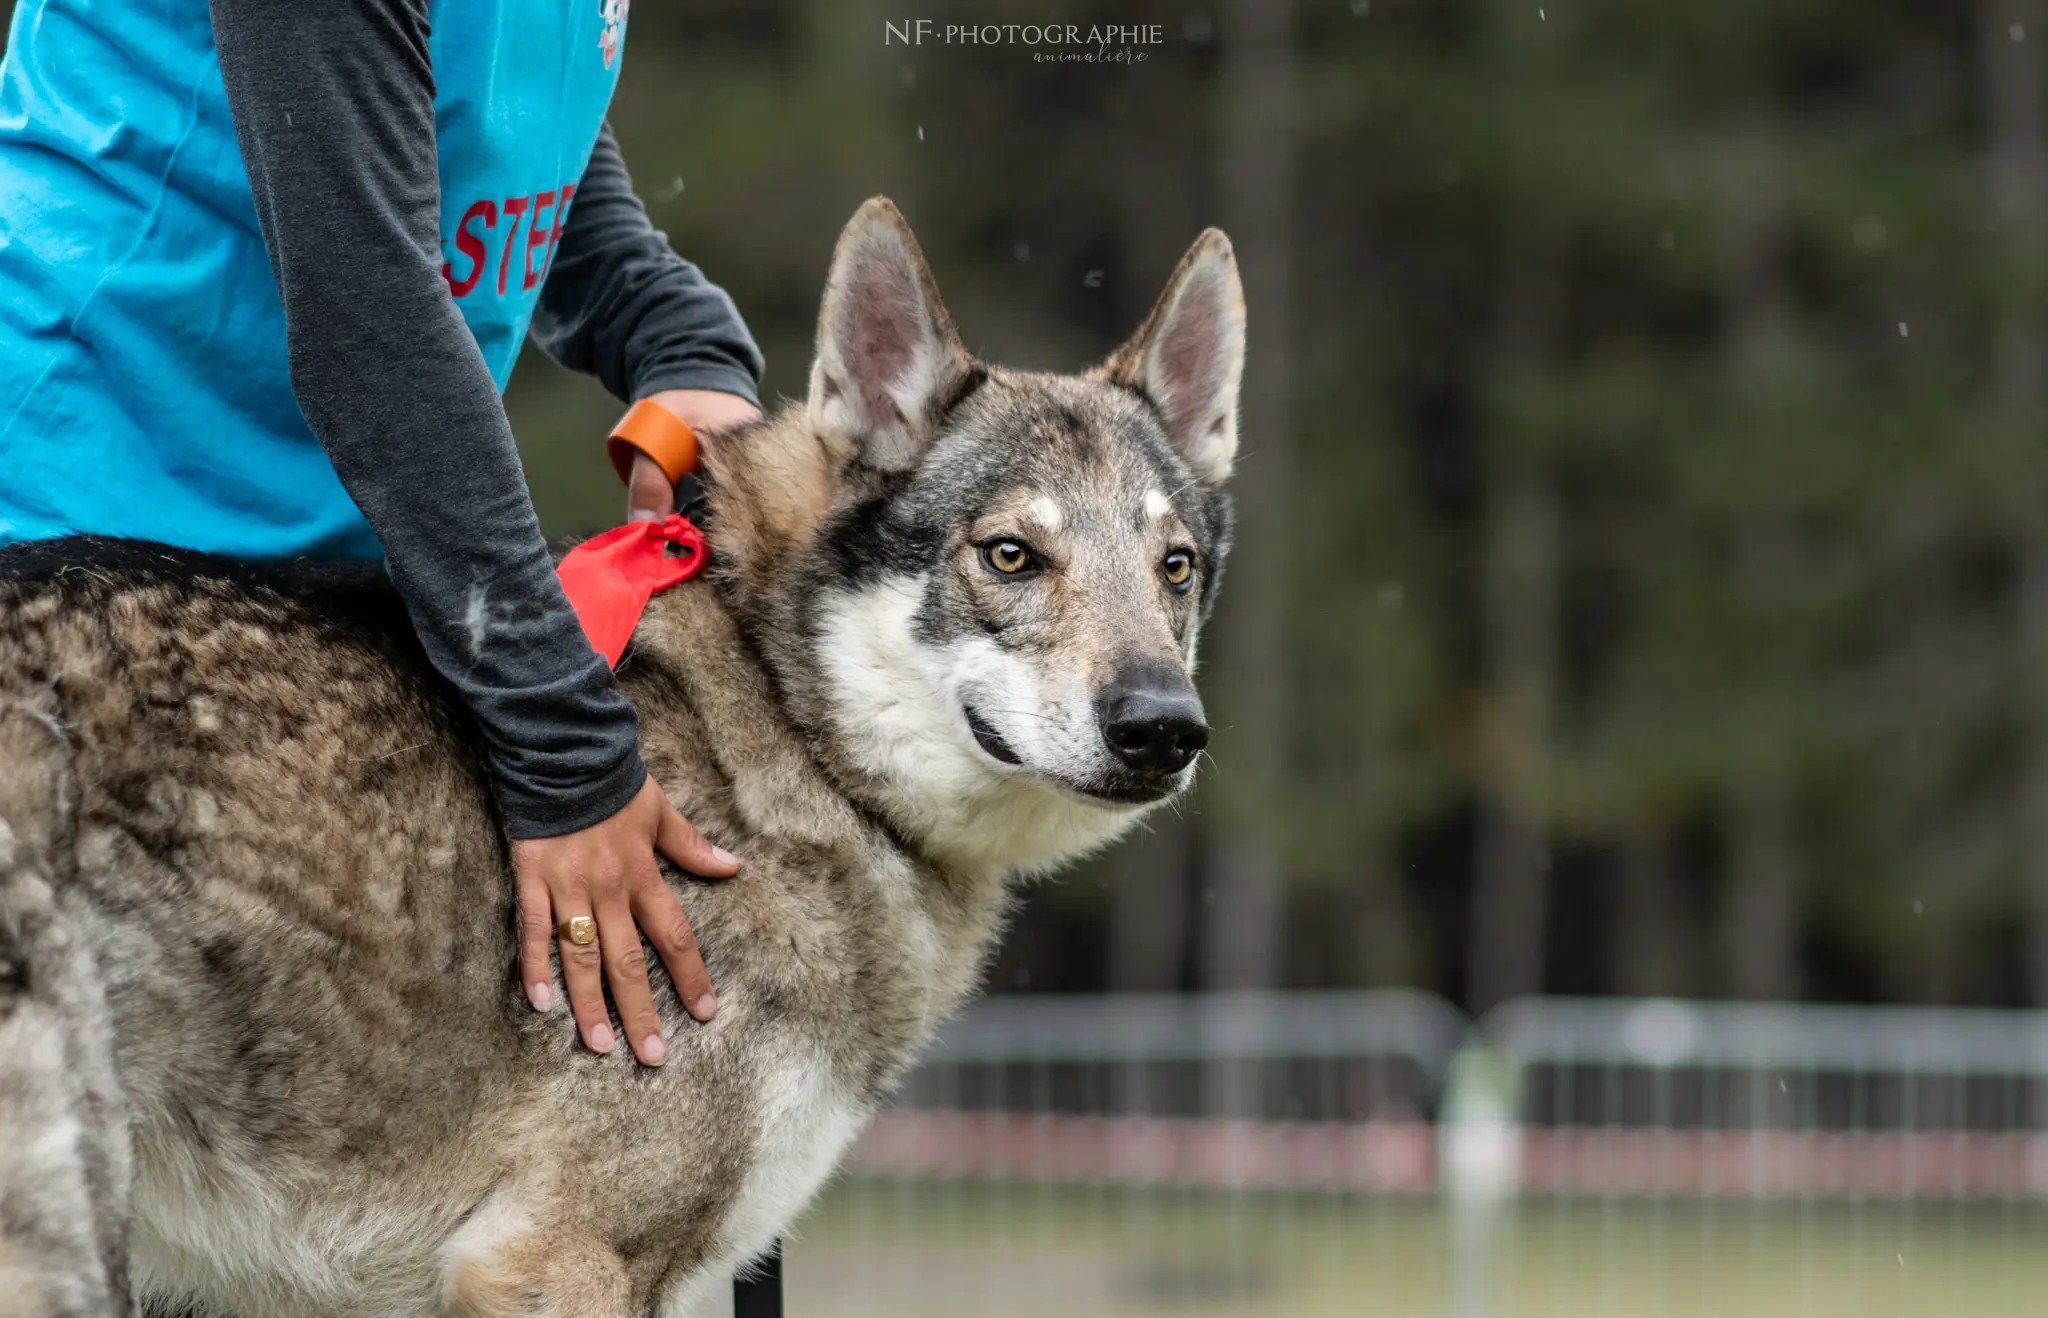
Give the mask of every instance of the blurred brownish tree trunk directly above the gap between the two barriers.
MULTIPOLYGON (((1542 358, 1563 291, 1540 246, 1501 262, 1495 387, 1542 358)), ((1489 420, 1481 563, 1487 661, 1481 812, 1466 984, 1473 1011, 1542 989, 1550 905, 1548 747, 1556 688, 1559 497, 1542 456, 1489 420)))

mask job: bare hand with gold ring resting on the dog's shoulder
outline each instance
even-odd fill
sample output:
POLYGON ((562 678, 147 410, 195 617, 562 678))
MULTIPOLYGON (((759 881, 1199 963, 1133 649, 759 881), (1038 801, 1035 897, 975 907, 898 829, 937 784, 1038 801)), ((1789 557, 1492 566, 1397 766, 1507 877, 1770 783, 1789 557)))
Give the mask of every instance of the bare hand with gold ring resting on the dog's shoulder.
POLYGON ((526 1001, 535 1011, 553 1007, 549 939, 557 929, 567 929, 571 919, 594 919, 598 933, 594 941, 578 946, 567 935, 561 939, 561 978, 569 991, 575 1027, 592 1052, 612 1050, 616 1040, 610 1013, 604 1009, 608 982, 633 1056, 647 1066, 662 1064, 668 1042, 662 1038, 662 1017, 653 1009, 653 989, 647 984, 643 931, 662 954, 662 964, 676 982, 676 995, 692 1017, 709 1021, 719 1005, 690 919, 655 866, 655 847, 690 874, 705 878, 731 878, 739 870, 739 860, 705 841, 668 802, 651 776, 625 808, 602 823, 561 837, 522 837, 512 843, 520 911, 520 980, 526 984, 526 1001))

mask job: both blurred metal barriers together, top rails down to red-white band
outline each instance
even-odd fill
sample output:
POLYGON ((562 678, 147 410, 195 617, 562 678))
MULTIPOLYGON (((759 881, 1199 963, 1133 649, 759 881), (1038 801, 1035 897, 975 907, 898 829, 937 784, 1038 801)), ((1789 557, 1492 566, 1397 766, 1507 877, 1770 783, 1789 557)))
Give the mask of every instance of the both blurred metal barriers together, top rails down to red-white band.
POLYGON ((1407 991, 987 999, 852 1171, 2048 1197, 2048 1013, 1524 999, 1470 1025, 1407 991))

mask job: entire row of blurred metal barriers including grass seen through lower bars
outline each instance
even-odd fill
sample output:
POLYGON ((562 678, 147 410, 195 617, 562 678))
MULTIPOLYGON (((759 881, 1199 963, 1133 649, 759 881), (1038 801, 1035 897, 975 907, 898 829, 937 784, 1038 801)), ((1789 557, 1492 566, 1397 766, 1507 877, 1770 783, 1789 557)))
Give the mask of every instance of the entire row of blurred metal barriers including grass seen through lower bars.
POLYGON ((991 999, 788 1277, 803 1316, 2034 1316, 2048 1013, 991 999))

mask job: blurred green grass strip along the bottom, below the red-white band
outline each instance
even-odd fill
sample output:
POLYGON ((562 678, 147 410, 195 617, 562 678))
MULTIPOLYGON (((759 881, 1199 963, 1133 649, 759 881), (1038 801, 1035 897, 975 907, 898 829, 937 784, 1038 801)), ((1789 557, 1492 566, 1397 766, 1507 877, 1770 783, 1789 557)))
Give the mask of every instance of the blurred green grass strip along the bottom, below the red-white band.
POLYGON ((791 1318, 2040 1318, 2048 1214, 1522 1205, 848 1183, 788 1248, 791 1318))

